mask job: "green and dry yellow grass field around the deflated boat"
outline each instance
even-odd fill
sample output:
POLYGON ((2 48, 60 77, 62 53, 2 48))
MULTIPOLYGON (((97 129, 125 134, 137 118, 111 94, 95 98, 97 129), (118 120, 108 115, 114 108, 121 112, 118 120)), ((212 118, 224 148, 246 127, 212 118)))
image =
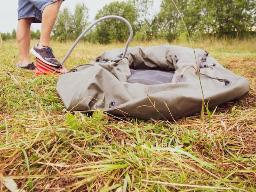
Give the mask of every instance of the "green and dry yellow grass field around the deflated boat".
MULTIPOLYGON (((61 60, 72 43, 52 42, 54 55, 61 60)), ((162 44, 168 43, 130 46, 162 44)), ((79 42, 64 65, 90 63, 124 46, 79 42)), ((56 92, 58 76, 16 69, 16 41, 2 42, 0 192, 256 191, 256 40, 211 39, 193 47, 247 78, 251 89, 218 106, 211 119, 205 112, 203 119, 170 123, 72 115, 56 92)))

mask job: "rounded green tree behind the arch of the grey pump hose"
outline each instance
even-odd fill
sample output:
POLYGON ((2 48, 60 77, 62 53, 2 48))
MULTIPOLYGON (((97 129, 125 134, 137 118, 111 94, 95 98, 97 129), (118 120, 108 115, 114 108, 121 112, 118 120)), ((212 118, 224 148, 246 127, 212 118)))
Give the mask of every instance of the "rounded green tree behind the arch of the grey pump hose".
MULTIPOLYGON (((111 2, 106 4, 95 16, 95 20, 104 16, 116 15, 128 20, 132 29, 135 28, 137 13, 133 4, 128 2, 111 2)), ((110 42, 125 42, 129 37, 129 29, 125 22, 118 19, 106 19, 99 22, 94 31, 87 36, 92 42, 108 44, 110 42)))

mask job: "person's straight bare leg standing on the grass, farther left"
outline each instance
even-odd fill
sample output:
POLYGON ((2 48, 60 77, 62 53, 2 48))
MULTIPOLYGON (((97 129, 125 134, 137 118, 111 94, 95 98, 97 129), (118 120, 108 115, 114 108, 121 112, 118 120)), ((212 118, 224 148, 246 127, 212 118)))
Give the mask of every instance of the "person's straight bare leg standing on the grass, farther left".
POLYGON ((33 18, 22 18, 18 20, 17 41, 20 54, 20 64, 27 65, 30 63, 29 48, 31 40, 30 26, 33 18))

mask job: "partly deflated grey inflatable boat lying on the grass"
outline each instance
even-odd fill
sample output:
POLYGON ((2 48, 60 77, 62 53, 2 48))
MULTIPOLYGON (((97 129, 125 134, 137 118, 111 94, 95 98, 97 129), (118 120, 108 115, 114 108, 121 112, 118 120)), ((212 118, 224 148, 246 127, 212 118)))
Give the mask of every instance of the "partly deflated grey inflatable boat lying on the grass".
POLYGON ((243 98, 250 89, 246 78, 202 49, 129 47, 121 58, 123 52, 106 51, 58 78, 56 90, 68 111, 171 121, 200 112, 203 94, 211 108, 243 98))

